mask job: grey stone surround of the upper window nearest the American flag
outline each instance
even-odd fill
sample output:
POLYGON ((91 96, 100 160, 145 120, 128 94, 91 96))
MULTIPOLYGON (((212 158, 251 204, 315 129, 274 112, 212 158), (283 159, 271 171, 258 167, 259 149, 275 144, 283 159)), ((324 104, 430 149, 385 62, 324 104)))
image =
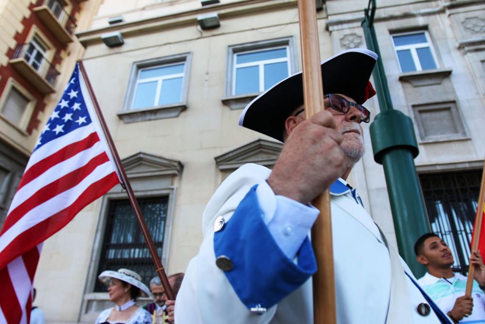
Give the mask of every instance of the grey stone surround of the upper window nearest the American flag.
MULTIPOLYGON (((183 110, 187 109, 187 95, 189 90, 191 62, 192 52, 133 62, 123 106, 121 111, 117 113, 118 117, 125 123, 178 117, 183 110), (153 107, 136 109, 132 108, 135 100, 136 89, 138 88, 138 77, 141 70, 146 68, 154 68, 157 66, 170 66, 180 63, 185 64, 182 89, 180 91, 180 102, 153 107)), ((160 89, 157 88, 157 91, 160 91, 160 89)))

